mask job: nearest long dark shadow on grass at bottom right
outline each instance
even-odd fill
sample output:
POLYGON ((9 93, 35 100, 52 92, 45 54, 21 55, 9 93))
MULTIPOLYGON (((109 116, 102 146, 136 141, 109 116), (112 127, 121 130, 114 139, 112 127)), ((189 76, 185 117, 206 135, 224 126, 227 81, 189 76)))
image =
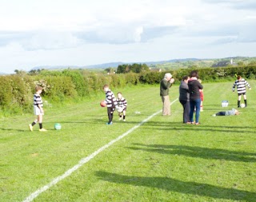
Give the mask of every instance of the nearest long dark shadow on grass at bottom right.
MULTIPOLYGON (((180 192, 196 196, 206 196, 214 199, 255 201, 256 193, 238 190, 235 188, 222 188, 211 184, 182 181, 170 177, 142 177, 124 176, 110 172, 98 171, 95 173, 100 180, 116 184, 130 184, 149 188, 159 188, 167 192, 180 192)), ((188 196, 190 198, 191 196, 188 196)), ((193 197, 193 196, 192 196, 193 197)))

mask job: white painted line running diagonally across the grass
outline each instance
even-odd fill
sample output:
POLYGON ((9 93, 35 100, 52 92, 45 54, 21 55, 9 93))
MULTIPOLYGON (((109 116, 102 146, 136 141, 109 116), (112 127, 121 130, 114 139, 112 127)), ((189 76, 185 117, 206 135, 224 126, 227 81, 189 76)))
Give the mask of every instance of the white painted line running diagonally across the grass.
MULTIPOLYGON (((170 105, 174 104, 175 101, 178 101, 178 98, 174 101, 172 101, 170 103, 170 105)), ((34 200, 38 195, 40 195, 42 192, 45 192, 47 189, 49 189, 50 187, 54 186, 55 184, 57 184, 60 180, 65 179, 67 176, 70 176, 74 171, 76 171, 78 168, 80 168, 83 164, 86 164, 89 160, 93 159, 95 156, 97 156, 100 152, 104 151, 105 149, 109 148, 111 145, 113 145, 115 142, 121 140, 123 137, 126 137, 129 133, 132 133, 134 131, 134 129, 138 129, 139 126, 143 125, 144 123, 146 123, 147 121, 149 121, 152 117, 158 115, 158 113, 161 113, 162 109, 160 111, 158 111, 157 113, 152 114, 150 117, 147 117, 144 121, 140 122, 138 125, 135 125, 133 128, 131 128, 130 130, 128 130, 126 133, 123 133, 121 136, 119 136, 118 138, 114 139, 113 141, 110 141, 108 144, 104 145, 102 148, 98 149, 97 151, 93 152, 92 154, 90 154, 90 156, 87 156, 85 158, 83 158, 82 160, 80 160, 78 162, 78 164, 74 165, 73 168, 70 168, 69 170, 67 170, 62 176, 57 176, 56 178, 54 178, 54 180, 52 180, 49 184, 46 184, 45 186, 43 186, 42 188, 39 188, 37 191, 33 192, 30 194, 30 196, 26 197, 25 200, 23 200, 23 202, 30 202, 32 200, 34 200)))

